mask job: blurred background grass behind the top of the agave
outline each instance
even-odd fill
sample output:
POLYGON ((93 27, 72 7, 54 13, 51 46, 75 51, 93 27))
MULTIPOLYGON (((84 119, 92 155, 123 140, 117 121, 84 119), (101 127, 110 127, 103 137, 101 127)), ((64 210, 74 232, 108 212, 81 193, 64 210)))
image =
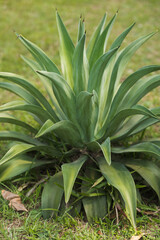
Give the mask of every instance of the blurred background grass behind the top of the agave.
MULTIPOLYGON (((41 86, 32 71, 22 61, 20 55, 29 56, 29 53, 21 45, 14 31, 27 37, 40 46, 46 54, 59 66, 59 39, 56 27, 55 9, 63 17, 74 40, 76 40, 77 23, 82 14, 87 31, 87 39, 90 38, 94 27, 101 19, 104 12, 108 13, 108 20, 119 9, 119 16, 111 34, 109 44, 118 36, 129 24, 136 22, 136 26, 131 31, 125 42, 136 39, 143 34, 147 34, 159 29, 157 21, 160 9, 159 0, 113 0, 106 3, 105 0, 25 0, 10 1, 0 0, 0 71, 14 72, 24 75, 27 79, 41 86)), ((156 34, 147 42, 132 58, 128 66, 127 74, 133 72, 147 64, 159 64, 160 34, 156 34)), ((125 44, 125 43, 124 43, 125 44)), ((159 89, 153 91, 148 97, 147 104, 158 105, 159 89), (154 104, 153 104, 154 103, 154 104)), ((7 92, 0 90, 0 103, 5 103, 7 92)), ((10 99, 14 98, 9 94, 10 99)))

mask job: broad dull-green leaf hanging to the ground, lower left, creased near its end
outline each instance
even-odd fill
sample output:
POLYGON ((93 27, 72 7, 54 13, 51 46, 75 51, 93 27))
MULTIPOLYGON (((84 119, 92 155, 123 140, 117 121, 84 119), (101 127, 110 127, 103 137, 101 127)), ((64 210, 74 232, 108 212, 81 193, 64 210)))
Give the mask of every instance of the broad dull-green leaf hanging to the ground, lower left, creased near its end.
POLYGON ((58 214, 63 192, 63 176, 62 172, 59 172, 50 177, 44 185, 41 197, 41 209, 44 219, 58 214))

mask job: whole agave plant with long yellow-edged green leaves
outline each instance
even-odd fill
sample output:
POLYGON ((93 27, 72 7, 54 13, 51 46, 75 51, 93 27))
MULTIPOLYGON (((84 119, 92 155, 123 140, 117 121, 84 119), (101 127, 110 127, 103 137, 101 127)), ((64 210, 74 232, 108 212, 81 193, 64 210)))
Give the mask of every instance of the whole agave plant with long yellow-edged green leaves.
POLYGON ((106 51, 116 16, 105 26, 104 15, 86 47, 84 21, 80 18, 74 44, 57 12, 61 71, 39 47, 17 34, 34 58, 23 60, 40 77, 49 98, 23 77, 0 73, 7 80, 0 87, 22 98, 0 107, 0 122, 28 131, 28 135, 24 131, 0 132, 1 140, 15 141, 0 160, 0 181, 33 167, 58 164, 61 169, 49 178, 42 193, 45 218, 61 214, 66 208, 73 215, 84 209, 88 220, 103 218, 112 202, 120 200, 135 227, 137 189, 133 172, 160 198, 160 169, 152 161, 152 155, 160 159, 160 141, 124 144, 124 139, 160 121, 160 107, 138 105, 160 85, 160 75, 150 74, 160 66, 142 67, 121 81, 132 55, 155 33, 121 48, 132 24, 106 51), (15 110, 32 115, 39 127, 5 113, 15 110), (147 159, 145 154, 149 155, 147 159))

